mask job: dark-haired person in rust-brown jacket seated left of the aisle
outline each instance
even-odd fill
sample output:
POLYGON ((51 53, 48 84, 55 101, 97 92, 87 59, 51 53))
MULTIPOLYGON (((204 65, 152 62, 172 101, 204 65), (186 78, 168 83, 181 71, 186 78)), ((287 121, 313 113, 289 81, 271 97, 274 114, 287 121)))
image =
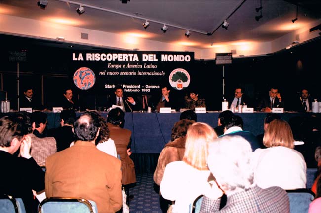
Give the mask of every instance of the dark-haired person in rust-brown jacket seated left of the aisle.
POLYGON ((129 129, 120 127, 121 123, 125 122, 125 113, 120 108, 115 108, 109 111, 107 116, 107 125, 109 136, 114 140, 117 154, 120 155, 122 179, 121 183, 125 187, 127 194, 127 202, 133 197, 129 195, 129 188, 136 183, 135 165, 129 157, 130 151, 130 136, 129 129))

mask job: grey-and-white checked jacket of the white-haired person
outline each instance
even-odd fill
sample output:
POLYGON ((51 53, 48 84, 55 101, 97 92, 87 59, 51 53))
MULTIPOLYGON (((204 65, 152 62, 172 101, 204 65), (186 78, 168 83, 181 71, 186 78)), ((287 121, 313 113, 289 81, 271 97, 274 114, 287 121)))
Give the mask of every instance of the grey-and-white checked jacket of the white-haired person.
POLYGON ((262 189, 258 186, 227 196, 219 210, 221 199, 204 196, 200 213, 290 213, 289 198, 280 187, 262 189))

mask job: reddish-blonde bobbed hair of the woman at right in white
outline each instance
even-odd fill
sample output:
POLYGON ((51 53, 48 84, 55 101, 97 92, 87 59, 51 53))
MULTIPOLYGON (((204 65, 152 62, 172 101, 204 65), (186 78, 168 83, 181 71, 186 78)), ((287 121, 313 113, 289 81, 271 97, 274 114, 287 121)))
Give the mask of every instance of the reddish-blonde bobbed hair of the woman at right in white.
POLYGON ((266 147, 283 146, 294 148, 294 138, 288 122, 275 119, 270 122, 268 129, 264 133, 263 144, 266 147))

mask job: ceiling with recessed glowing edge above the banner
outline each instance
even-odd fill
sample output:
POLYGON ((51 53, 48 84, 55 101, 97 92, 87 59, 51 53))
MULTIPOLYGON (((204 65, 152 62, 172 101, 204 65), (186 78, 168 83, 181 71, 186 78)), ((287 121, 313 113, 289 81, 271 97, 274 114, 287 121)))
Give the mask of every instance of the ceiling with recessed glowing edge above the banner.
POLYGON ((259 0, 131 0, 127 4, 119 0, 49 0, 43 10, 37 6, 37 0, 0 0, 0 14, 42 21, 60 17, 74 21, 68 25, 80 28, 117 34, 136 32, 155 41, 194 43, 193 47, 200 49, 210 48, 212 43, 272 41, 308 23, 318 20, 320 23, 319 0, 263 0, 263 17, 256 21, 255 16, 260 12, 256 12, 255 8, 259 6, 259 0), (77 4, 84 4, 85 12, 82 15, 76 13, 77 4), (298 20, 292 23, 291 19, 296 17, 295 4, 299 5, 298 20), (145 19, 150 22, 147 29, 142 26, 145 19), (225 19, 230 23, 228 30, 221 28, 225 19), (169 25, 166 33, 161 31, 163 24, 169 25), (192 33, 189 38, 184 36, 187 29, 192 33), (213 31, 212 35, 206 35, 213 31))

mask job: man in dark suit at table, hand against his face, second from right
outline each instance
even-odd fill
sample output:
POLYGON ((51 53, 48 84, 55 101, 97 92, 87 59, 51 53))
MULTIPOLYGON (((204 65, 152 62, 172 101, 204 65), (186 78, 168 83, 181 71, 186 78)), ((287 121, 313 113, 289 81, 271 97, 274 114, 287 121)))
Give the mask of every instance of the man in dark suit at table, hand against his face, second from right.
POLYGON ((271 112, 272 108, 284 108, 284 102, 282 101, 280 93, 278 93, 278 87, 272 86, 269 90, 269 96, 265 96, 261 99, 258 109, 262 112, 271 112))

